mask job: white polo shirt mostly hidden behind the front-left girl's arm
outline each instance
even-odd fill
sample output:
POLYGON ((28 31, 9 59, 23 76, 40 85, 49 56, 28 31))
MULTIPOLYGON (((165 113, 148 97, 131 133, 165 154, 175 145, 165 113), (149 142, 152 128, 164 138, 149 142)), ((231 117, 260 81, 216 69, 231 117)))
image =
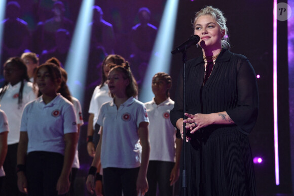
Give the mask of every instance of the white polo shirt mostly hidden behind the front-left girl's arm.
MULTIPOLYGON (((71 96, 71 102, 73 104, 73 107, 75 108, 77 124, 80 124, 82 126, 84 124, 84 120, 80 101, 76 97, 71 96)), ((72 168, 80 168, 78 144, 76 147, 75 159, 73 159, 72 163, 72 168)))

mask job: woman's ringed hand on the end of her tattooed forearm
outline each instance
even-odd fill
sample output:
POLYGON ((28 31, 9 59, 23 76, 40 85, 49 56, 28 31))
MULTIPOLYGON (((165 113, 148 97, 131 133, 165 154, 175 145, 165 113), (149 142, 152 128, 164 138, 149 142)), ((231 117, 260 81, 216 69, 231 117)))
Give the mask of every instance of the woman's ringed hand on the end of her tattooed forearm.
POLYGON ((203 128, 213 123, 211 118, 209 117, 209 114, 194 114, 193 115, 193 114, 185 113, 185 116, 187 116, 188 119, 183 120, 183 122, 187 123, 186 129, 190 129, 191 134, 194 134, 200 128, 203 128))

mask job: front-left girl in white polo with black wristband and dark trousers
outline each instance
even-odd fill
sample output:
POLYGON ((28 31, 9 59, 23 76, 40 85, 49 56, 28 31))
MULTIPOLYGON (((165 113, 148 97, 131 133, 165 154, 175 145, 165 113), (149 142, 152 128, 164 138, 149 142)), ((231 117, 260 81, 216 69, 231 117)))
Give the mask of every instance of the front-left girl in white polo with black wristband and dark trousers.
POLYGON ((61 73, 55 64, 38 67, 34 81, 42 96, 26 105, 22 114, 18 188, 28 195, 65 194, 77 144, 75 109, 57 93, 61 73))

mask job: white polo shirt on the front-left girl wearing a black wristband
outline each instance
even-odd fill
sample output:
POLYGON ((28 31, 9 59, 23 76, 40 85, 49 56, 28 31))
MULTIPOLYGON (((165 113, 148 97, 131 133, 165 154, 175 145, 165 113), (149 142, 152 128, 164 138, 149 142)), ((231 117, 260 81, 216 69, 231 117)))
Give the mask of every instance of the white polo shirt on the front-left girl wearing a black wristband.
POLYGON ((64 154, 64 134, 77 133, 73 105, 58 95, 47 105, 42 96, 26 105, 21 118, 21 132, 27 132, 27 152, 47 151, 64 154))

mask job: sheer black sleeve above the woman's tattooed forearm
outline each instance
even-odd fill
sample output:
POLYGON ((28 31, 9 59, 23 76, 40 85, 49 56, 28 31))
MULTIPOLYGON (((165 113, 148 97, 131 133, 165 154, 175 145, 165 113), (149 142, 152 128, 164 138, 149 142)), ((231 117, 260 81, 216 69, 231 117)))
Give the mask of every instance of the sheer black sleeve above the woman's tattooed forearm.
POLYGON ((242 133, 249 134, 258 116, 259 95, 256 75, 248 59, 237 61, 237 93, 237 107, 226 112, 242 133))

